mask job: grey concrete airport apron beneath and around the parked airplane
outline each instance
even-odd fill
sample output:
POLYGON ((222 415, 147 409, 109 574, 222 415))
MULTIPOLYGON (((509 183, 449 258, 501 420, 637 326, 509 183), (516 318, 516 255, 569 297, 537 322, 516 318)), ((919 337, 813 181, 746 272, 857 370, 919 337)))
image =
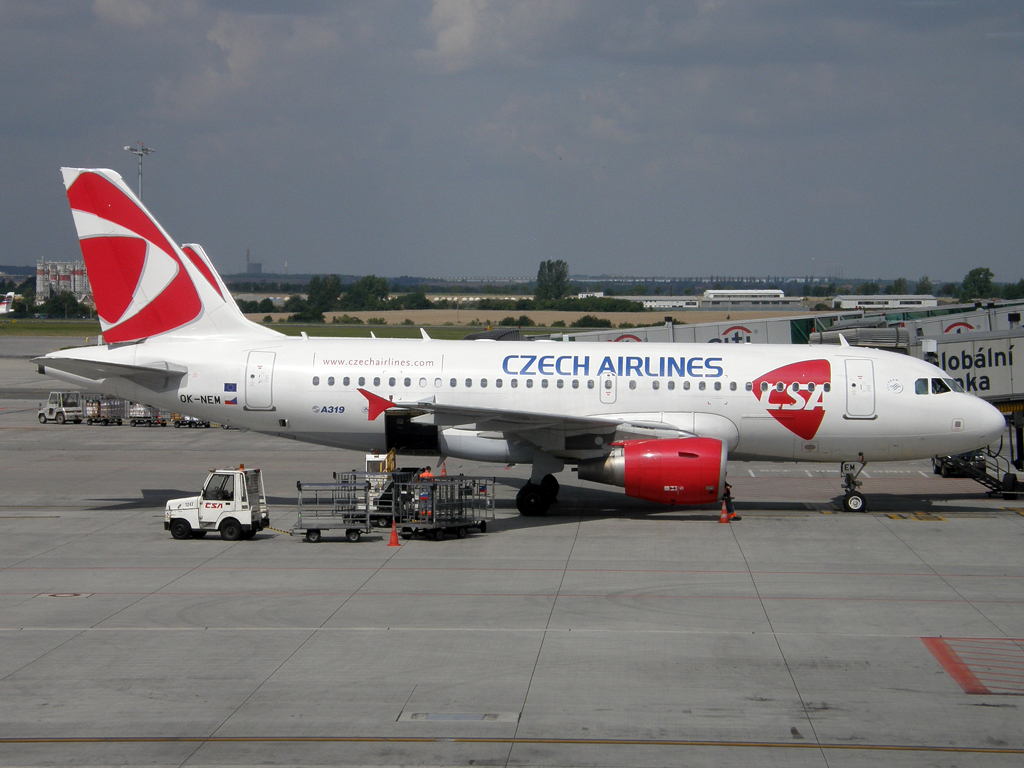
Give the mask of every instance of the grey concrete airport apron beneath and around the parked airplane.
MULTIPOLYGON (((174 541, 214 466, 362 455, 237 430, 41 425, 0 339, 0 765, 1019 766, 1024 502, 868 465, 730 466, 742 520, 560 476, 443 542, 174 541)), ((402 462, 403 464, 406 462, 402 462)), ((416 463, 415 461, 413 463, 416 463)))

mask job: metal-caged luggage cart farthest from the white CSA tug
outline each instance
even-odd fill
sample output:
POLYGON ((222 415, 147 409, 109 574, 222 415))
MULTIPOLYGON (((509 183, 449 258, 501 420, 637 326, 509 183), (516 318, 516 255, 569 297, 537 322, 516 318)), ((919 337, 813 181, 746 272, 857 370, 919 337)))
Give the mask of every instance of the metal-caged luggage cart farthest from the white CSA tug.
POLYGON ((495 519, 493 477, 453 475, 395 482, 393 499, 395 524, 402 539, 465 539, 470 528, 486 532, 487 521, 495 519))

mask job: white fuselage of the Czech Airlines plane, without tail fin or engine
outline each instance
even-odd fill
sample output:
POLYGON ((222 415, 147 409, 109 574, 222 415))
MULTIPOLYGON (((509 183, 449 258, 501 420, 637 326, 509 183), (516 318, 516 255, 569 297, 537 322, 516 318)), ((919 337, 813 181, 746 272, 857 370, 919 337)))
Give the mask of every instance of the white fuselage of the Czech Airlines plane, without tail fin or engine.
MULTIPOLYGON (((167 388, 117 377, 102 386, 221 424, 359 451, 394 446, 395 429, 392 424, 388 434, 386 415, 368 418, 360 388, 402 404, 622 415, 652 434, 662 425, 718 437, 729 457, 740 460, 928 458, 979 449, 1002 430, 998 412, 983 400, 933 393, 931 381, 946 379, 940 369, 846 346, 157 337, 50 356, 65 355, 128 366, 172 362, 187 373, 167 388)), ((404 413, 415 419, 415 408, 404 413)), ((514 441, 486 427, 425 421, 422 428, 440 433, 437 453, 527 460, 516 455, 514 441)), ((565 433, 552 443, 548 435, 546 450, 567 462, 593 456, 594 445, 573 442, 577 437, 565 433)))

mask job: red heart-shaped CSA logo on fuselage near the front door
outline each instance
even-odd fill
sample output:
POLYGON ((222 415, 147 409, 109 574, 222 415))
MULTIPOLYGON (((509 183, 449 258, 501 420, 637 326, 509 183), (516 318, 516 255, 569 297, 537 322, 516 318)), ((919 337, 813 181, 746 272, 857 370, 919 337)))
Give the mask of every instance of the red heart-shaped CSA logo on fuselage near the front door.
POLYGON ((825 417, 826 384, 831 387, 828 360, 805 360, 769 371, 754 382, 754 394, 779 424, 811 440, 825 417))

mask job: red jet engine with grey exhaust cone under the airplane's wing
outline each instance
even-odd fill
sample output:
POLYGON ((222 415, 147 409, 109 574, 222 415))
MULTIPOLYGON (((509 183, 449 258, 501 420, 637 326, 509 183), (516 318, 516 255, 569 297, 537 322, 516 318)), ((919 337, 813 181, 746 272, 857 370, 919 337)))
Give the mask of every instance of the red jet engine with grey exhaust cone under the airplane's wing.
POLYGON ((580 463, 580 479, 622 485, 662 504, 709 504, 725 489, 728 449, 713 437, 627 440, 605 459, 580 463))

